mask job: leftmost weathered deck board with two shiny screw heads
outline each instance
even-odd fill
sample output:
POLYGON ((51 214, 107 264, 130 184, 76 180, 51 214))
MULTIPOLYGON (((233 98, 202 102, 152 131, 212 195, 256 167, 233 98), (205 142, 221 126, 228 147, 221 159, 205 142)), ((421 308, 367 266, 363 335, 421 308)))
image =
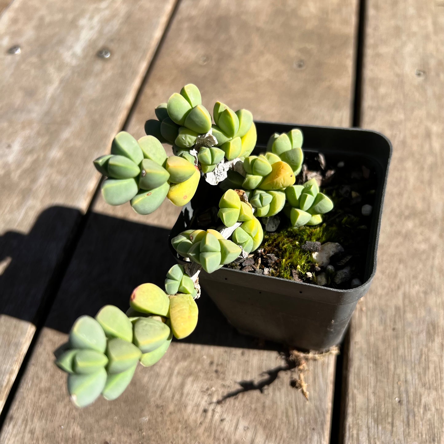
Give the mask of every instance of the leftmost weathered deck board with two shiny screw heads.
POLYGON ((174 4, 15 0, 0 16, 0 410, 97 185, 91 159, 123 125, 174 4))

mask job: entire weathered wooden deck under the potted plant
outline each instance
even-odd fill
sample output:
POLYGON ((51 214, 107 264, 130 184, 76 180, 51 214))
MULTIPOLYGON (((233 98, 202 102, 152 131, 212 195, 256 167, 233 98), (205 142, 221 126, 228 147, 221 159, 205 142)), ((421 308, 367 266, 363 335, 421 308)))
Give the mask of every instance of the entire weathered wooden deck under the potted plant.
POLYGON ((444 3, 0 0, 0 41, 0 443, 444 442, 444 3), (189 82, 256 119, 392 140, 377 275, 340 357, 307 362, 308 401, 282 350, 204 295, 196 333, 75 409, 52 351, 163 281, 179 211, 107 206, 91 160, 189 82))

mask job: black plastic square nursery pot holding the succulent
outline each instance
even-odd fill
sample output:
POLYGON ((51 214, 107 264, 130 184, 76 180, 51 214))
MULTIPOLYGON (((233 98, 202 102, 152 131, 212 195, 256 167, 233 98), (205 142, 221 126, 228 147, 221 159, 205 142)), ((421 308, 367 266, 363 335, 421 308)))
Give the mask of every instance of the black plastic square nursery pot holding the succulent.
MULTIPOLYGON (((273 133, 287 132, 297 127, 304 134, 305 155, 321 152, 326 159, 333 159, 334 162, 362 159, 373 167, 376 187, 369 222, 364 283, 356 288, 333 289, 228 268, 221 268, 212 274, 202 270, 199 283, 239 332, 299 349, 329 349, 341 342, 357 301, 369 291, 375 275, 382 204, 392 146, 385 136, 357 128, 269 122, 256 122, 256 126, 258 142, 252 154, 265 151, 273 133)), ((208 199, 211 203, 218 202, 214 188, 201 180, 198 192, 182 209, 172 228, 170 239, 183 230, 196 228, 193 214, 202 207, 202 202, 208 202, 208 199), (209 194, 211 192, 213 196, 209 194)), ((170 249, 180 262, 171 244, 170 249)))

